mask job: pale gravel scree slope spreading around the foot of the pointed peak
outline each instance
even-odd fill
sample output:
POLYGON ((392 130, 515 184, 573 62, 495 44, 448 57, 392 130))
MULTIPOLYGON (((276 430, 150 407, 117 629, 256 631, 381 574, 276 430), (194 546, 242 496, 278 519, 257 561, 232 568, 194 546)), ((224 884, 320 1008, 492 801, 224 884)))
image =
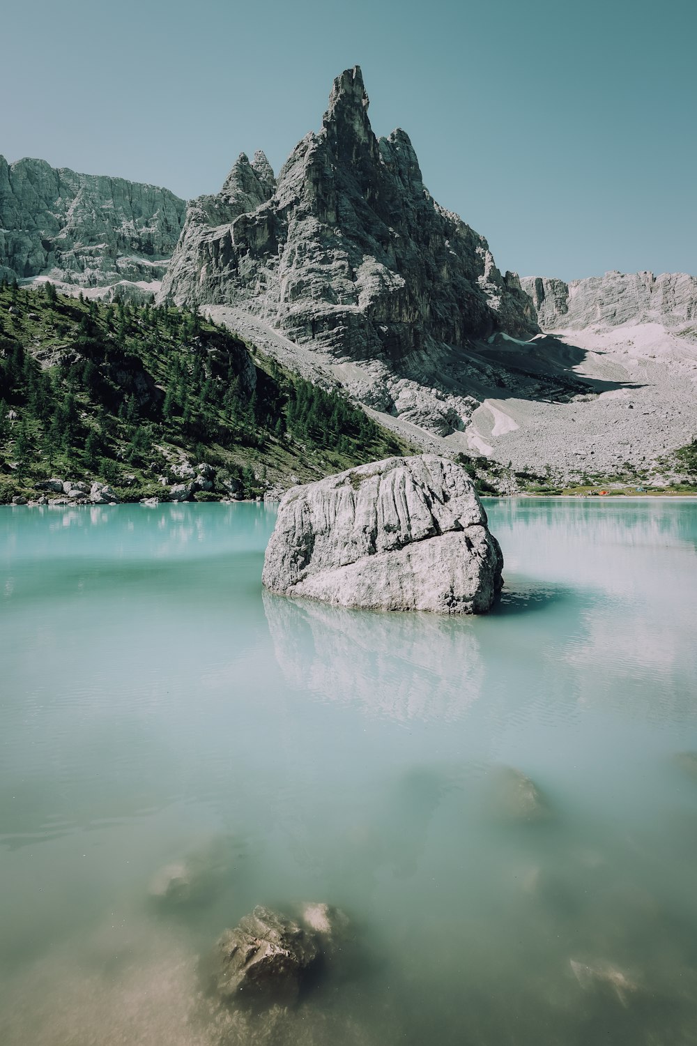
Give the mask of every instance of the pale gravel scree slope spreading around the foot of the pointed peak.
MULTIPOLYGON (((397 382, 376 361, 368 366, 338 363, 307 344, 296 345, 243 310, 216 305, 206 312, 325 387, 341 385, 351 392, 369 379, 387 381, 391 387, 397 382)), ((624 387, 572 403, 507 397, 501 390, 474 409, 464 431, 445 437, 403 416, 371 408, 368 413, 423 450, 489 455, 505 464, 511 461, 516 470, 538 473, 550 465, 570 478, 586 470, 610 472, 625 461, 646 467, 697 435, 695 340, 656 323, 560 331, 555 337, 585 350, 574 368, 580 377, 621 382, 624 387)))

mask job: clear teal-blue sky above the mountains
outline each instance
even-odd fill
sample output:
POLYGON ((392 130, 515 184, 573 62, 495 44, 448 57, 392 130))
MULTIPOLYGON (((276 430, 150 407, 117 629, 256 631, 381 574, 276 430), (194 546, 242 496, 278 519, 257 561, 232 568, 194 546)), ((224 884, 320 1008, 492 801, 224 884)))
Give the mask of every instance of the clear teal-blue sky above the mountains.
POLYGON ((499 268, 697 273, 695 0, 20 0, 2 37, 10 161, 216 191, 357 63, 499 268))

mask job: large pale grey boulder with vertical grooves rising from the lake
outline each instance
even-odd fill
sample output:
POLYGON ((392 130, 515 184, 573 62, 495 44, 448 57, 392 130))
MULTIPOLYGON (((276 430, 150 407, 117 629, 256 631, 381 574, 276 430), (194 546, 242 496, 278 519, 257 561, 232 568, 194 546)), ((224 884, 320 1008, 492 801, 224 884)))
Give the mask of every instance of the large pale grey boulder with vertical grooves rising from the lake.
POLYGON ((424 454, 288 491, 262 581, 342 607, 479 614, 501 590, 503 563, 467 473, 424 454))

